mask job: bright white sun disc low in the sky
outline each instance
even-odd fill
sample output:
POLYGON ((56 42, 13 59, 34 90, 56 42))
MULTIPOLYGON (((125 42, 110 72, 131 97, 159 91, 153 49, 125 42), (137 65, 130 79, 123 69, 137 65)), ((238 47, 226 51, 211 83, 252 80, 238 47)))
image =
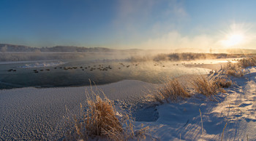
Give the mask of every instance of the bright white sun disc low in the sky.
POLYGON ((244 35, 242 33, 232 33, 222 41, 222 44, 225 47, 234 47, 238 44, 241 44, 244 41, 244 35))

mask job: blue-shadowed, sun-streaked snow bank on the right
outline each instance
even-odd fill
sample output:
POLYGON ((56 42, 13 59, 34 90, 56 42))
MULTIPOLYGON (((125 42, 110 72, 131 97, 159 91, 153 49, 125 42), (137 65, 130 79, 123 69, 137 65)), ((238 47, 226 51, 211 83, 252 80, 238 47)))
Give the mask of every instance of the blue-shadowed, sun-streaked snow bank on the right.
POLYGON ((235 84, 217 100, 196 94, 159 105, 157 121, 137 121, 137 129, 149 126, 148 140, 221 140, 222 134, 222 140, 256 140, 256 68, 247 70, 245 76, 232 78, 235 84))

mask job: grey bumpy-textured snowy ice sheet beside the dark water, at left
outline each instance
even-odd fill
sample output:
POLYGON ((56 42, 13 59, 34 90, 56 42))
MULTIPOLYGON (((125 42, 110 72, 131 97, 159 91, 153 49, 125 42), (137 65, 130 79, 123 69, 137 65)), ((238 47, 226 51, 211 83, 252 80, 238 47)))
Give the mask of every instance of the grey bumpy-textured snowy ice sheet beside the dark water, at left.
MULTIPOLYGON (((98 88, 112 100, 132 100, 144 94, 143 89, 152 86, 154 84, 127 80, 98 88)), ((0 90, 0 140, 49 140, 62 137, 66 107, 72 113, 79 113, 79 103, 86 102, 86 88, 90 89, 89 86, 81 86, 0 90)))

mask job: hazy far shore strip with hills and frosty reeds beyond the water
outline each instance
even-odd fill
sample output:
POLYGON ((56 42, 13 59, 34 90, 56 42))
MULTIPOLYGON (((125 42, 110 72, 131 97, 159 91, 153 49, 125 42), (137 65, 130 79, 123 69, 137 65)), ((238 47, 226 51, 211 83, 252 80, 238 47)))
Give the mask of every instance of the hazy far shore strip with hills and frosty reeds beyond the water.
POLYGON ((256 49, 108 49, 103 47, 26 47, 22 45, 0 44, 0 61, 28 60, 127 60, 139 61, 177 61, 205 60, 231 57, 244 57, 256 53, 256 49))

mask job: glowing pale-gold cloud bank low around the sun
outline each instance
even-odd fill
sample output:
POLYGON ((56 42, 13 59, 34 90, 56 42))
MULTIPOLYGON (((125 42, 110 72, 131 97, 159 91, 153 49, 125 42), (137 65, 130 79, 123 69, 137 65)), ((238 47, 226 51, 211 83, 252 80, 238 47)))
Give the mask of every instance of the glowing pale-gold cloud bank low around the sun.
POLYGON ((141 48, 141 49, 181 49, 181 48, 199 48, 199 49, 227 49, 244 48, 255 49, 256 33, 251 24, 230 24, 227 30, 219 33, 199 33, 195 35, 184 35, 176 30, 162 33, 161 36, 148 37, 139 44, 124 45, 123 48, 141 48), (241 41, 237 41, 240 38, 241 41), (232 41, 234 43, 232 43, 232 41), (229 45, 227 45, 227 43, 229 45))

